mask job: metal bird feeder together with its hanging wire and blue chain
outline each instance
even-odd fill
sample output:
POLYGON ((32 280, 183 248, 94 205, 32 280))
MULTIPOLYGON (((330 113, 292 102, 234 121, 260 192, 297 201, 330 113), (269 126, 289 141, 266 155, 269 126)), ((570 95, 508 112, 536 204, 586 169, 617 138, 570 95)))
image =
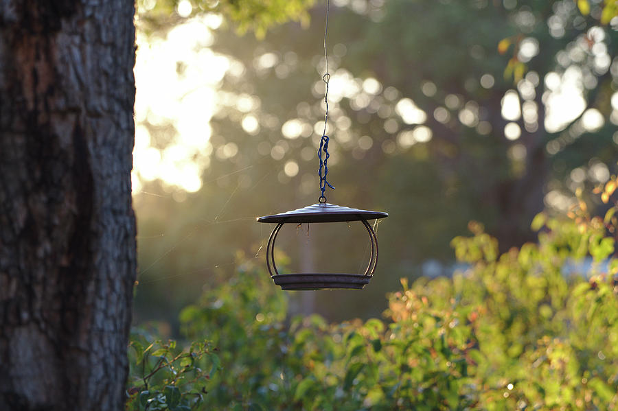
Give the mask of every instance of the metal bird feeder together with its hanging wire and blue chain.
POLYGON ((326 180, 328 174, 328 141, 326 135, 326 126, 328 124, 328 82, 330 74, 328 73, 328 55, 326 54, 326 34, 328 33, 328 0, 326 1, 326 28, 324 30, 324 54, 326 61, 326 73, 322 80, 325 82, 326 92, 324 102, 326 104, 326 112, 324 116, 324 131, 320 140, 318 149, 320 191, 321 195, 317 204, 279 213, 274 215, 264 215, 258 218, 258 222, 276 223, 277 226, 273 229, 271 236, 268 237, 268 245, 266 246, 266 266, 268 273, 271 274, 271 279, 275 284, 279 285, 282 290, 323 290, 323 289, 356 289, 361 290, 369 283, 373 277, 378 265, 378 237, 367 220, 378 220, 389 215, 381 211, 367 211, 352 209, 350 207, 341 207, 326 202, 325 190, 326 187, 334 189, 326 180), (324 156, 323 156, 324 155, 324 156), (323 158, 322 158, 323 156, 323 158), (297 274, 279 274, 277 265, 275 264, 275 241, 282 226, 286 223, 304 224, 304 223, 328 223, 328 222, 352 222, 360 221, 363 223, 369 233, 369 242, 371 243, 371 255, 369 256, 369 264, 363 274, 322 274, 322 273, 297 273, 297 274))

